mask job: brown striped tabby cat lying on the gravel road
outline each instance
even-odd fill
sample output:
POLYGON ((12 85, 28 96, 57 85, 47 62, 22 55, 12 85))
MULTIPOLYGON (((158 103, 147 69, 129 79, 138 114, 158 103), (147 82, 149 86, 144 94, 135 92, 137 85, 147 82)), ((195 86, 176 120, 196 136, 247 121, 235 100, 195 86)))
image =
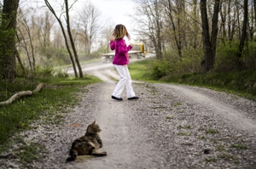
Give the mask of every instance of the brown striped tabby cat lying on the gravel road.
POLYGON ((101 128, 96 124, 96 121, 91 123, 84 134, 83 137, 78 138, 73 141, 72 147, 70 149, 67 158, 68 161, 75 161, 78 155, 94 155, 94 156, 104 156, 107 152, 97 152, 97 149, 102 148, 102 139, 100 138, 98 132, 101 132, 101 128))

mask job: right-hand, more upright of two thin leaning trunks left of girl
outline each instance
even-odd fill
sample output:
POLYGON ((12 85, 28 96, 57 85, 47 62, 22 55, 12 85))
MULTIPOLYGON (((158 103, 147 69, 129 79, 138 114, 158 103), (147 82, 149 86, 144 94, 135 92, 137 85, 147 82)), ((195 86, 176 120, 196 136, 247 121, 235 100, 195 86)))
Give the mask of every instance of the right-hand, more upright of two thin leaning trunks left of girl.
POLYGON ((67 21, 67 32, 68 32, 68 36, 69 36, 69 40, 71 42, 71 46, 73 48, 73 54, 76 60, 76 63, 78 65, 79 68, 79 77, 83 78, 83 71, 79 62, 79 56, 77 54, 77 50, 75 48, 74 42, 73 42, 73 37, 72 37, 72 33, 71 33, 71 29, 70 29, 70 22, 69 22, 69 8, 68 8, 68 2, 67 0, 65 0, 65 5, 66 5, 66 21, 67 21))

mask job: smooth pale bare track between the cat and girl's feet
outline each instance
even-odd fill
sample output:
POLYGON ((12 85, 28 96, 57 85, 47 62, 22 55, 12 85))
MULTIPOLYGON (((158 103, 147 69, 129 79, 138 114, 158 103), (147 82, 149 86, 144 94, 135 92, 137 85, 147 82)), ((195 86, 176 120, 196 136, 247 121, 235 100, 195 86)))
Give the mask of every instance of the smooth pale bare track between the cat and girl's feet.
POLYGON ((115 83, 106 82, 97 96, 96 121, 102 127, 103 149, 108 157, 96 158, 85 163, 77 163, 79 168, 152 168, 160 166, 164 158, 156 158, 158 149, 154 144, 146 144, 147 135, 132 120, 137 112, 133 101, 110 99, 115 83))

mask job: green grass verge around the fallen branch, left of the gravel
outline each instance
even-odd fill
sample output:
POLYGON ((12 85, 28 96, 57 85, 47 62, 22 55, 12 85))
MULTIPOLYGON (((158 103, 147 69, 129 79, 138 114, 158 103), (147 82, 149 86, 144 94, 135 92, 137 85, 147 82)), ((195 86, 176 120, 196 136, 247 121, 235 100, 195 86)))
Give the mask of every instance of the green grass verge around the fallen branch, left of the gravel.
POLYGON ((18 79, 12 83, 0 82, 1 87, 5 87, 5 93, 8 93, 4 93, 0 101, 9 99, 16 92, 34 90, 39 82, 45 83, 45 87, 40 92, 33 93, 29 97, 21 97, 12 104, 0 107, 0 153, 8 138, 14 136, 15 132, 28 129, 34 120, 43 117, 44 123, 61 123, 63 118, 56 112, 67 112, 67 108, 78 104, 79 93, 86 92, 84 86, 101 81, 94 76, 84 76, 82 79, 48 78, 35 81, 18 79))

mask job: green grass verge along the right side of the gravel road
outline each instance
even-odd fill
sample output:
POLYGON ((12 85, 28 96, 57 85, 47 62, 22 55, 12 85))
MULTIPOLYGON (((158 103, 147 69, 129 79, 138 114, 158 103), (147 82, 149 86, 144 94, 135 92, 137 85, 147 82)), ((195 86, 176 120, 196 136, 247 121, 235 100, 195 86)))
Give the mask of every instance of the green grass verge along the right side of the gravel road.
POLYGON ((230 73, 186 73, 180 76, 163 76, 154 79, 150 68, 154 59, 144 59, 129 65, 132 80, 143 82, 164 82, 206 87, 212 90, 233 93, 256 101, 256 70, 243 70, 230 73))

